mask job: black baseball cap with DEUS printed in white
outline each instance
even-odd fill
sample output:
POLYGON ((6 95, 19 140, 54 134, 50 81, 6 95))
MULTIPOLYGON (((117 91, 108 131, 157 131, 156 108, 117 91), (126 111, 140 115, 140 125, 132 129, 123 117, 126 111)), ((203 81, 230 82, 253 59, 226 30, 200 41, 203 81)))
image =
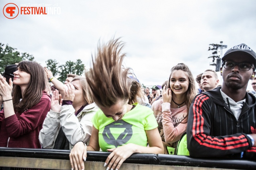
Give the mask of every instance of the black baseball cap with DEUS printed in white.
POLYGON ((239 44, 239 45, 236 45, 236 46, 232 47, 231 49, 229 49, 222 57, 222 61, 225 61, 227 56, 230 56, 230 55, 234 54, 235 52, 244 52, 244 53, 249 54, 249 56, 251 56, 252 64, 254 65, 254 70, 255 70, 255 68, 256 68, 256 53, 246 44, 239 44))

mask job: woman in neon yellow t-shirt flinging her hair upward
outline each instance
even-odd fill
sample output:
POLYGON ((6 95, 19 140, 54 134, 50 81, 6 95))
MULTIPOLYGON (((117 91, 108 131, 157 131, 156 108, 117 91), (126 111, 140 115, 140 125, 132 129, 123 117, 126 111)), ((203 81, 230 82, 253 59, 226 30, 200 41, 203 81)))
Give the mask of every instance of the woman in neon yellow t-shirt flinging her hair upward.
POLYGON ((136 103, 138 96, 143 95, 141 85, 127 77, 130 68, 122 67, 125 57, 125 53, 121 52, 122 47, 119 39, 99 45, 98 54, 92 61, 93 68, 85 73, 100 110, 92 118, 89 145, 78 142, 71 150, 73 169, 84 169, 83 160, 86 160, 87 151, 101 149, 111 152, 104 164, 107 169, 119 169, 133 153, 164 153, 153 111, 136 103), (120 132, 118 128, 126 130, 120 132))

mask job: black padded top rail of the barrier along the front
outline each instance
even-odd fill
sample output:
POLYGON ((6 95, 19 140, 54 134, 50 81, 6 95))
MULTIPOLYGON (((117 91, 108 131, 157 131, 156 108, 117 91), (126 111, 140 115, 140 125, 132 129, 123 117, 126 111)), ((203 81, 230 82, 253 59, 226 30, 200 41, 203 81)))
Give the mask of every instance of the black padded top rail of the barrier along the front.
MULTIPOLYGON (((70 150, 56 149, 24 149, 0 147, 0 156, 5 157, 26 157, 44 159, 69 160, 70 150)), ((105 162, 108 152, 88 151, 86 161, 105 162)), ((225 169, 256 169, 256 162, 243 159, 198 159, 190 156, 164 155, 164 154, 133 154, 127 158, 125 163, 150 164, 150 165, 172 165, 191 166, 225 169)))

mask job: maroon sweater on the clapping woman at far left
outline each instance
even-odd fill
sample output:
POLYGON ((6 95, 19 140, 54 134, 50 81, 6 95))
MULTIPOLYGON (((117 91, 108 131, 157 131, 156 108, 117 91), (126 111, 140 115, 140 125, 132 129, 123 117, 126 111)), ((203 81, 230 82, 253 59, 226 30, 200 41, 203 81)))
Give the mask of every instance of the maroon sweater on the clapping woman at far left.
POLYGON ((38 140, 39 131, 50 109, 51 99, 44 91, 39 103, 23 113, 16 113, 14 110, 15 115, 4 118, 4 110, 2 110, 0 112, 0 147, 41 148, 38 140))

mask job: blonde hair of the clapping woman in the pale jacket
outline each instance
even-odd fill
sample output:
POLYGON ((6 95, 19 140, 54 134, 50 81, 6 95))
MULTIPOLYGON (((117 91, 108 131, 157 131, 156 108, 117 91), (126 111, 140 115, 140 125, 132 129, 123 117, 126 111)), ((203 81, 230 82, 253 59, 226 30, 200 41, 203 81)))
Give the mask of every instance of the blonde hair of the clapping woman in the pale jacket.
POLYGON ((81 86, 82 86, 82 89, 83 89, 84 105, 86 105, 87 103, 92 104, 93 103, 92 94, 91 94, 91 91, 89 89, 86 78, 82 77, 82 76, 77 76, 72 81, 75 81, 75 80, 79 80, 80 83, 81 83, 81 86))

